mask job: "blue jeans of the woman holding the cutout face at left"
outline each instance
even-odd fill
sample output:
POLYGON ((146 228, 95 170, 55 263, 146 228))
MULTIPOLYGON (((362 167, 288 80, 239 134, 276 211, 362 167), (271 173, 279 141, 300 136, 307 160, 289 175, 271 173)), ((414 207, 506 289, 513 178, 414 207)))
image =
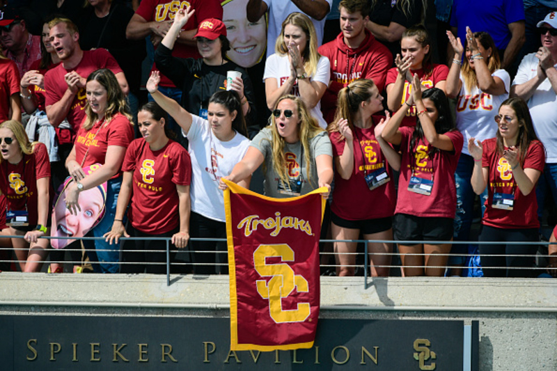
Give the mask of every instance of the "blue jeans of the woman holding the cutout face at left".
MULTIPOLYGON (((122 186, 122 177, 111 179, 107 182, 107 203, 105 204, 106 212, 102 221, 90 230, 86 237, 102 237, 104 233, 112 229, 114 217, 116 216, 116 204, 118 203, 118 194, 122 186)), ((124 224, 127 217, 124 216, 124 224)), ((83 246, 87 251, 91 265, 95 273, 118 273, 120 271, 120 244, 109 244, 104 239, 84 239, 83 246)))

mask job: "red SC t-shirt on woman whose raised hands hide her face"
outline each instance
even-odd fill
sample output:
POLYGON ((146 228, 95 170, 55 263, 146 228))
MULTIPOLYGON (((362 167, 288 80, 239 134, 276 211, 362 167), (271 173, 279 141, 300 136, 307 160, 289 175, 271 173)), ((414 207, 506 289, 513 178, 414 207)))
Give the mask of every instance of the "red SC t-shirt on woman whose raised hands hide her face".
POLYGON ((398 179, 398 202, 396 213, 414 216, 428 216, 454 219, 457 207, 457 189, 455 171, 457 169, 464 137, 459 131, 446 132, 445 135, 453 142, 453 152, 441 150, 433 158, 427 155, 432 145, 421 139, 414 144, 414 156, 411 157, 410 140, 414 127, 401 127, 402 142, 400 151, 400 178, 398 179), (412 174, 414 171, 414 174, 412 174), (425 196, 408 190, 410 177, 433 179, 431 194, 425 196))

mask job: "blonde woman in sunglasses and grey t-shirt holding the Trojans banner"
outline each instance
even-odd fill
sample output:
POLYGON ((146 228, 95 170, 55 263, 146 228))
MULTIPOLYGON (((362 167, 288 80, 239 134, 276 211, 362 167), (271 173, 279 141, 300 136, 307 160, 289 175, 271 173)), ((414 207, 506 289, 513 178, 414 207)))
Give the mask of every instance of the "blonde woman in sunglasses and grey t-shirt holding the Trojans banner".
MULTIPOLYGON (((288 198, 327 187, 333 180, 333 152, 327 132, 310 116, 301 98, 283 95, 272 112, 272 122, 253 138, 246 155, 224 177, 240 182, 265 163, 265 195, 288 198)), ((221 189, 226 184, 221 181, 221 189)))

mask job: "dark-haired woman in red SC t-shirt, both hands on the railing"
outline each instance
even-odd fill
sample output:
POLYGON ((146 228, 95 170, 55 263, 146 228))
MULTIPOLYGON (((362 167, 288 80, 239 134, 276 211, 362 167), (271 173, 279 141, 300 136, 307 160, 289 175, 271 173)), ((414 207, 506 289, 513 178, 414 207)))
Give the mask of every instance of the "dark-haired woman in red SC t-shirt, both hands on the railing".
MULTIPOLYGON (((185 248, 189 239, 189 182, 191 161, 185 148, 168 136, 168 116, 156 103, 144 104, 137 114, 143 138, 132 141, 122 164, 116 219, 104 237, 116 242, 125 237, 171 237, 173 246, 185 248), (131 203, 130 203, 131 200, 131 203), (123 223, 130 203, 127 228, 123 223)), ((175 248, 171 248, 173 261, 175 248)), ((166 241, 126 240, 122 246, 121 273, 166 272, 166 241)))

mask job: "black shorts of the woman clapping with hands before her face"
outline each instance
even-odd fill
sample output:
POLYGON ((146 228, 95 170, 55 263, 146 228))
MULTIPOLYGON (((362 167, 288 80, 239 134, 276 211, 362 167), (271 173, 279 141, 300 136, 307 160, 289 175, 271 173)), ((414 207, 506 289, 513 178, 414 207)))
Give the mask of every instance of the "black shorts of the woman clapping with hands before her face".
POLYGON ((449 241, 453 223, 453 218, 395 214, 393 235, 397 241, 449 241))

